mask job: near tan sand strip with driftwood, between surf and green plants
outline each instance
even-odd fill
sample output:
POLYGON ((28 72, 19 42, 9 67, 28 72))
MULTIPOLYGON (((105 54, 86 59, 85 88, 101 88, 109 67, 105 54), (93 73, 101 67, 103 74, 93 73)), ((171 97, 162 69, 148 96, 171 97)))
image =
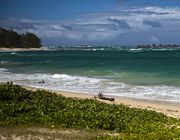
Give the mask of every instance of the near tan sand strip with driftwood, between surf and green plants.
MULTIPOLYGON (((94 99, 94 96, 97 94, 83 94, 77 92, 68 92, 68 91, 57 91, 57 90, 50 90, 50 89, 43 89, 43 88, 34 88, 29 86, 22 86, 28 90, 35 91, 37 89, 55 92, 57 94, 61 94, 65 97, 71 98, 79 98, 79 99, 94 99)), ((109 97, 109 96, 108 96, 109 97)), ((113 96, 114 97, 114 96, 113 96)), ((172 102, 163 102, 163 101, 156 101, 156 100, 146 100, 146 99, 135 99, 135 98, 127 98, 127 97, 114 97, 115 101, 107 101, 97 99, 99 101, 109 103, 109 104, 123 104, 131 108, 140 108, 140 109, 147 109, 153 110, 156 112, 161 112, 169 117, 180 118, 180 103, 172 103, 172 102)))

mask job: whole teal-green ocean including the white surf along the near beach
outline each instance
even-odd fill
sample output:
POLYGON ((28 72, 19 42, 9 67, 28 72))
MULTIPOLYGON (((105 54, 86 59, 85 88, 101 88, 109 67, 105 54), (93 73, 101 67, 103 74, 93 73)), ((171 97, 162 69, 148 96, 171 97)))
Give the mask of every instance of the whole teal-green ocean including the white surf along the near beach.
POLYGON ((0 82, 180 103, 180 50, 51 47, 0 52, 0 82), (41 81, 45 81, 42 83, 41 81))

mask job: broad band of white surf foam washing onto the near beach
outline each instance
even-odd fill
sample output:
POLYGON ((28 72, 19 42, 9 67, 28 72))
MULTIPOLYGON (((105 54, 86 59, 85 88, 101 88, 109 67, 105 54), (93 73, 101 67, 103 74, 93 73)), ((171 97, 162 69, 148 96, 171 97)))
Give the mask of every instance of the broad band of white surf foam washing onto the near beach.
POLYGON ((32 87, 74 91, 131 98, 180 102, 180 87, 175 86, 134 86, 109 79, 72 76, 67 74, 17 74, 0 68, 0 82, 13 81, 32 87), (39 83, 40 81, 45 83, 39 83))

